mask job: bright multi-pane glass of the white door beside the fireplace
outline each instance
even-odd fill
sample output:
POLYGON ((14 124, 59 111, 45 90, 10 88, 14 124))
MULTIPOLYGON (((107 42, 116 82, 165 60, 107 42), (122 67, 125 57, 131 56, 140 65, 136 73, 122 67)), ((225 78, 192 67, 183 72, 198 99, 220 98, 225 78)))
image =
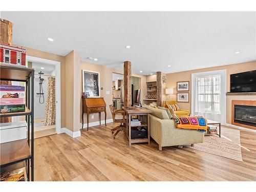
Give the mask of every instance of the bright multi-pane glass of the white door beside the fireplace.
POLYGON ((221 74, 196 77, 197 113, 221 114, 221 74))

